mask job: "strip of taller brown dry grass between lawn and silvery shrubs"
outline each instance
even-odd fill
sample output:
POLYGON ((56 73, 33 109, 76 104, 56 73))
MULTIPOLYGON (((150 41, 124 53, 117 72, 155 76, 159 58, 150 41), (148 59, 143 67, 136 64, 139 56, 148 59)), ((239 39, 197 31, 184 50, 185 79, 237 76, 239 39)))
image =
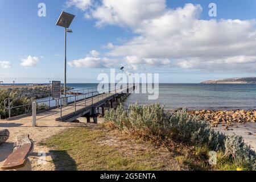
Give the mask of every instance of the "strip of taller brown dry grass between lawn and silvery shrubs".
MULTIPOLYGON (((112 122, 105 123, 103 126, 115 130, 115 125, 112 122)), ((189 144, 176 142, 171 139, 159 139, 151 136, 148 138, 143 134, 131 132, 129 130, 115 130, 117 135, 124 133, 122 138, 133 139, 137 143, 146 143, 148 146, 155 146, 155 148, 162 148, 168 151, 171 158, 174 158, 179 164, 181 170, 193 171, 236 171, 238 166, 234 164, 232 159, 224 157, 221 152, 217 153, 217 164, 209 165, 209 147, 207 146, 191 146, 189 144)), ((121 139, 122 139, 121 138, 121 139)), ((163 159, 162 159, 163 160, 163 159)), ((240 167, 245 169, 243 167, 240 167)), ((177 170, 177 169, 175 169, 177 170)))

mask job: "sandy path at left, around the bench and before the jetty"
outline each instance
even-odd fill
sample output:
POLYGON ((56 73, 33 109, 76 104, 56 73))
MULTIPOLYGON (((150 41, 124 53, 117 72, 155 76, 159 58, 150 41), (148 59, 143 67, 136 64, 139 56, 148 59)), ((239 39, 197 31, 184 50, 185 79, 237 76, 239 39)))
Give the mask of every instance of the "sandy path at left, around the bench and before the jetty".
MULTIPOLYGON (((98 119, 102 122, 102 118, 98 119)), ((39 146, 39 142, 60 133, 61 131, 69 127, 82 127, 86 126, 84 118, 79 118, 80 123, 66 123, 56 121, 40 121, 37 122, 37 127, 31 127, 31 122, 28 121, 0 121, 0 130, 7 129, 10 131, 10 138, 6 143, 0 145, 0 166, 4 160, 13 151, 13 145, 17 134, 29 134, 30 138, 34 141, 34 151, 29 157, 33 171, 52 171, 55 170, 55 166, 52 162, 54 156, 50 149, 45 146, 39 146), (46 154, 46 158, 42 156, 46 154)))

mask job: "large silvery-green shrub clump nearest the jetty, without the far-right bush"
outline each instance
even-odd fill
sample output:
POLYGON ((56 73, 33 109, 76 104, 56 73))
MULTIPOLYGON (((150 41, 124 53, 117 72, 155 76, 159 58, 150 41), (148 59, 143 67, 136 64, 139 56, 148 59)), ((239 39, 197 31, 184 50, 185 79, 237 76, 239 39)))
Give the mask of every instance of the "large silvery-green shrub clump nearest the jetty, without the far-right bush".
POLYGON ((154 135, 189 144, 207 144, 211 150, 224 148, 224 135, 211 129, 208 122, 191 117, 184 109, 171 115, 158 103, 142 106, 132 104, 128 111, 121 105, 116 111, 107 111, 105 119, 113 121, 120 129, 126 127, 148 137, 154 135))

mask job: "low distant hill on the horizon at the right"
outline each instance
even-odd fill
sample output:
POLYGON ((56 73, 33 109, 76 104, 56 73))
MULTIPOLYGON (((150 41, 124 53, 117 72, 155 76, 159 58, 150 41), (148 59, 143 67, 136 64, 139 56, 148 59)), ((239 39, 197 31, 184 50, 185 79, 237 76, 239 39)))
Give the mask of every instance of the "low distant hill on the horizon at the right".
POLYGON ((222 80, 208 80, 201 84, 256 84, 256 77, 226 78, 222 80))

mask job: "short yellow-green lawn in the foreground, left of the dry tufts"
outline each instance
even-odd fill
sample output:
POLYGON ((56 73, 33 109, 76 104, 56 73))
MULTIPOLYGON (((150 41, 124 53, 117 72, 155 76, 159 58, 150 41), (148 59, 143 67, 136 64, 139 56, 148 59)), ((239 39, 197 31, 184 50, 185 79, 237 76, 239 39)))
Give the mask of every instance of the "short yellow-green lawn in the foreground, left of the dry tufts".
POLYGON ((170 152, 106 125, 67 129, 41 143, 56 170, 181 170, 170 152))

